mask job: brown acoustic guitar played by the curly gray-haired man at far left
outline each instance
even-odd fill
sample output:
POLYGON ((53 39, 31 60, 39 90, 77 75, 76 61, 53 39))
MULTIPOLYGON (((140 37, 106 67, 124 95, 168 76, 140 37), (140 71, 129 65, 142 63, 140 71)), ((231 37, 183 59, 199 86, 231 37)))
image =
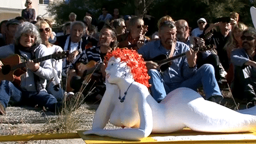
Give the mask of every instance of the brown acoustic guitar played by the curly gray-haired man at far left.
MULTIPOLYGON (((56 52, 52 55, 43 56, 37 59, 33 59, 35 63, 42 62, 47 59, 63 59, 68 56, 68 52, 56 52)), ((21 57, 17 54, 9 56, 5 59, 1 59, 2 69, 0 70, 0 81, 7 80, 14 82, 14 84, 20 85, 20 76, 27 72, 25 69, 25 63, 21 62, 21 57)))

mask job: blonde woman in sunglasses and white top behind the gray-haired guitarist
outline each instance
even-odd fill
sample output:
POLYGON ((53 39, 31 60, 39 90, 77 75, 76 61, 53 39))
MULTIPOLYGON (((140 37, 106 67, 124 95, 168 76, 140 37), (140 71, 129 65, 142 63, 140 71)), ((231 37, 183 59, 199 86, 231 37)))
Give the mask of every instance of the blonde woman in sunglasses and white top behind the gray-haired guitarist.
MULTIPOLYGON (((50 54, 63 51, 60 46, 49 43, 49 39, 52 34, 52 28, 46 21, 41 20, 36 23, 36 26, 39 28, 42 43, 47 47, 47 50, 50 52, 50 54)), ((63 91, 62 91, 62 88, 60 87, 61 73, 62 73, 62 59, 60 60, 51 59, 51 60, 52 60, 54 76, 52 79, 50 79, 50 81, 47 81, 46 90, 49 92, 49 94, 54 95, 58 101, 62 101, 63 91)))

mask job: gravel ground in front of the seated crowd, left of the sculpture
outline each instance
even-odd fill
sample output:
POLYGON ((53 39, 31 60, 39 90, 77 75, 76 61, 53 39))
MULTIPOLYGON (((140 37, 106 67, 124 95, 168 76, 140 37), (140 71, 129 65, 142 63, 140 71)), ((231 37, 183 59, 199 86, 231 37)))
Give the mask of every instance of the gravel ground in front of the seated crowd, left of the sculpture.
MULTIPOLYGON (((78 129, 89 130, 92 124, 92 117, 98 105, 83 104, 75 111, 78 129)), ((24 135, 37 133, 51 133, 56 131, 56 120, 60 116, 40 108, 33 107, 7 107, 7 115, 0 116, 0 135, 24 135)), ((73 122, 73 121, 72 121, 73 122)), ((114 127, 107 124, 107 127, 114 127)), ((73 130, 72 132, 76 132, 73 130)), ((12 143, 85 143, 82 139, 60 139, 60 140, 30 140, 28 142, 0 142, 12 143)))

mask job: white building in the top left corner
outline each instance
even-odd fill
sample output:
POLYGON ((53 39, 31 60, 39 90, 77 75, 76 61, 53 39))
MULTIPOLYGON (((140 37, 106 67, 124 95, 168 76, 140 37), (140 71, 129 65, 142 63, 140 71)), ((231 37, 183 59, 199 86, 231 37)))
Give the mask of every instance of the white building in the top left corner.
MULTIPOLYGON (((25 9, 26 0, 0 0, 0 22, 10 20, 17 16, 21 16, 21 11, 25 9)), ((31 0, 32 8, 36 10, 37 15, 43 15, 43 18, 53 20, 53 17, 47 12, 47 5, 63 0, 31 0)))

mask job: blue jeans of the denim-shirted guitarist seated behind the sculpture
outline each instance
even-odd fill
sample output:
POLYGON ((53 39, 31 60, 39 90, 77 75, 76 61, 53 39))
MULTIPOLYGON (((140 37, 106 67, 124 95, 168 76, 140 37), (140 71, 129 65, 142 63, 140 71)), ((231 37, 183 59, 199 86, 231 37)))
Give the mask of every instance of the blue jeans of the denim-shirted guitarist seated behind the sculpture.
POLYGON ((150 69, 148 73, 149 76, 151 76, 151 79, 149 79, 149 83, 151 84, 151 94, 158 102, 162 101, 169 92, 180 87, 187 87, 197 91, 197 88, 203 86, 207 100, 215 95, 222 97, 219 85, 217 85, 215 79, 215 70, 210 64, 202 65, 191 78, 176 84, 166 82, 168 81, 168 78, 163 78, 161 73, 156 69, 150 69))

